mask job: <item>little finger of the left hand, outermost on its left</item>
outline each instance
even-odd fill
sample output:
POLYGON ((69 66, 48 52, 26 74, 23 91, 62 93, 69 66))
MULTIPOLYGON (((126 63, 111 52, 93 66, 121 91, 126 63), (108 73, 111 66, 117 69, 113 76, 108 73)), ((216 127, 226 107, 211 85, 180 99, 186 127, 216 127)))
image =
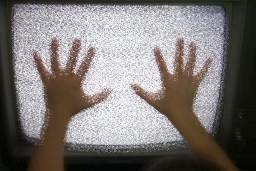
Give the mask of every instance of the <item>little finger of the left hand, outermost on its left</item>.
POLYGON ((39 71, 42 82, 45 83, 45 81, 50 77, 50 73, 45 69, 42 59, 37 52, 33 53, 33 57, 36 62, 36 68, 39 71))

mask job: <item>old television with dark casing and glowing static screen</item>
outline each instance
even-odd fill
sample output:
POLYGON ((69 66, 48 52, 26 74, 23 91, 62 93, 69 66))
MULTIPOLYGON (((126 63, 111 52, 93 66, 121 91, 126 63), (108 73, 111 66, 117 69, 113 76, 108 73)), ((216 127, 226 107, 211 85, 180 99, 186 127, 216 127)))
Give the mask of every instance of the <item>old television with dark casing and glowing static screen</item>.
MULTIPOLYGON (((72 41, 81 39, 78 64, 88 47, 96 50, 83 80, 108 98, 79 112, 69 122, 67 163, 144 163, 157 156, 189 154, 187 143, 168 119, 136 95, 131 84, 161 88, 154 47, 172 73, 175 44, 184 38, 197 46, 195 73, 213 62, 199 86, 193 109, 205 129, 227 149, 247 1, 15 1, 1 4, 3 123, 9 157, 27 161, 39 141, 45 115, 41 78, 33 61, 38 51, 50 71, 50 42, 60 44, 67 62, 72 41)), ((4 143, 5 144, 5 143, 4 143)))

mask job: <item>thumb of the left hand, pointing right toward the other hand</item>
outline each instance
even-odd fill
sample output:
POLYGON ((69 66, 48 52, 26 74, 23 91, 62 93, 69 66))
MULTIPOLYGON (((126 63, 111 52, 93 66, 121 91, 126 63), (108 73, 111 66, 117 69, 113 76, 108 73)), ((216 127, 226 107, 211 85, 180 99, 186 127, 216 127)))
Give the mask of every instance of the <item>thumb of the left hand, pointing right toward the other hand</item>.
POLYGON ((93 96, 89 96, 88 97, 88 105, 89 107, 98 104, 104 100, 107 99, 107 97, 109 96, 109 94, 111 94, 112 90, 109 88, 105 88, 102 92, 95 94, 93 96))

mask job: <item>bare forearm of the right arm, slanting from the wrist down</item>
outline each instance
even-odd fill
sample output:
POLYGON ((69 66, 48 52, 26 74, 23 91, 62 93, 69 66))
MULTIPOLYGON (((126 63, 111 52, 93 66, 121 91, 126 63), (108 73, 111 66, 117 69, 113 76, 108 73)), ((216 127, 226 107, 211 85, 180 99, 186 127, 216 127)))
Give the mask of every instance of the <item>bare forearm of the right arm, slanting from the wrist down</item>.
POLYGON ((226 171, 238 171, 225 152, 206 132, 192 109, 177 112, 176 115, 180 115, 182 119, 169 118, 169 120, 188 142, 193 153, 217 163, 226 171))

